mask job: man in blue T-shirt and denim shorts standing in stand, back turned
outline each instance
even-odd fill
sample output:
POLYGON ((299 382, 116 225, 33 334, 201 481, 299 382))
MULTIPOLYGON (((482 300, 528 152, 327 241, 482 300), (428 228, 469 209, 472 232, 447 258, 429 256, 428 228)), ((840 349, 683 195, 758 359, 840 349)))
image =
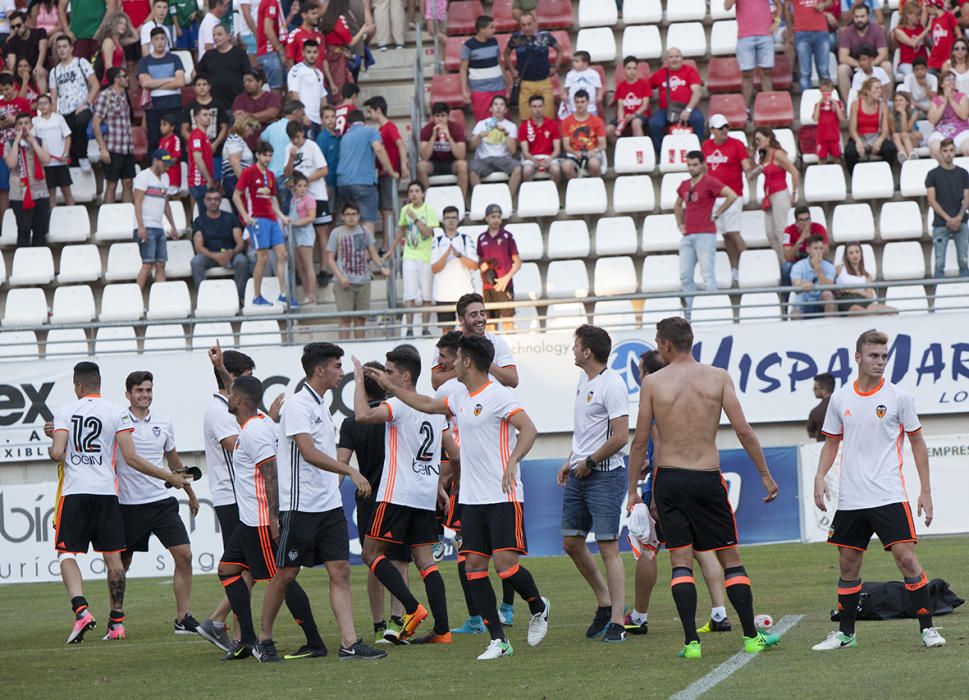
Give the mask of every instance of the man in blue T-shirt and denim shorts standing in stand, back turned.
MULTIPOLYGON (((374 156, 392 178, 399 178, 400 173, 394 170, 390 162, 380 132, 364 123, 363 112, 353 110, 347 116, 347 122, 347 132, 340 140, 340 163, 336 172, 337 192, 340 201, 357 203, 358 220, 373 234, 379 204, 374 156)), ((385 236, 389 239, 389 235, 385 236)))

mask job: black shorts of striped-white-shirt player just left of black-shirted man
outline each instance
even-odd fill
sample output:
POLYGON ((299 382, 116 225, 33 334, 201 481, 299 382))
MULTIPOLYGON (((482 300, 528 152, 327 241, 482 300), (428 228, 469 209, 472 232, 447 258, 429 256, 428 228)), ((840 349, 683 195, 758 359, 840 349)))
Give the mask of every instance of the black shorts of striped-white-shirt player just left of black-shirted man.
POLYGON ((343 506, 322 513, 287 510, 279 514, 276 566, 316 566, 349 561, 350 531, 343 506))

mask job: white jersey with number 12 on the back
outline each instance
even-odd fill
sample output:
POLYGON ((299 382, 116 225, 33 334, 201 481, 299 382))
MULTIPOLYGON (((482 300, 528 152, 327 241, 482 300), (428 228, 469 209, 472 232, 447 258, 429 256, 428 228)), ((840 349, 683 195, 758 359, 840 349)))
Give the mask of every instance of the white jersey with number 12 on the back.
POLYGON ((54 431, 68 434, 60 493, 118 493, 115 450, 118 433, 131 432, 128 411, 99 394, 67 404, 54 416, 54 431))

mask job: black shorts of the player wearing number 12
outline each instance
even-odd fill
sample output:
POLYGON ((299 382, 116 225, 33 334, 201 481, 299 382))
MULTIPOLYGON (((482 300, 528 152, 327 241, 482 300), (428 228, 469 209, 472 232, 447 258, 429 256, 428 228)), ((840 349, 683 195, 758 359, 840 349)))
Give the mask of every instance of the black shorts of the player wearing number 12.
POLYGON ((124 523, 117 496, 73 493, 61 496, 54 516, 54 549, 85 554, 124 551, 124 523))

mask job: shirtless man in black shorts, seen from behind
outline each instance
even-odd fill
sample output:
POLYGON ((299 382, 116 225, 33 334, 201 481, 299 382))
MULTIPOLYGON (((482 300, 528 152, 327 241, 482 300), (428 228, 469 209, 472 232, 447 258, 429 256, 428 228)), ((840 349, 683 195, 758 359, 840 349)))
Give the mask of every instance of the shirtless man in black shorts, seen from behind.
MULTIPOLYGON (((730 375, 693 359, 689 322, 671 317, 656 324, 656 349, 667 366, 643 380, 629 463, 645 462, 655 418, 659 444, 654 455, 657 467, 652 507, 666 535, 673 567, 670 588, 685 636, 679 656, 701 656, 691 568, 694 550, 716 552, 724 569, 727 597, 743 625, 744 651, 756 654, 776 644, 778 637, 758 632, 754 626, 750 579, 737 551, 737 524, 720 474, 717 430, 721 410, 760 472, 767 490, 765 503, 777 498, 777 484, 767 468, 757 434, 744 417, 730 375)), ((630 469, 629 507, 642 503, 638 482, 638 470, 630 469)))

